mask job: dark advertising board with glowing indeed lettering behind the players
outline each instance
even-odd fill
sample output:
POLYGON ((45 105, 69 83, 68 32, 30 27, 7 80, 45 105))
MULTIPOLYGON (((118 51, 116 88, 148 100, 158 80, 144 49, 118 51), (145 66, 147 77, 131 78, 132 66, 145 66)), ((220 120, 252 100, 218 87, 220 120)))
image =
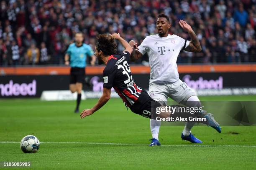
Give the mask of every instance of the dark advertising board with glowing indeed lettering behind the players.
MULTIPOLYGON (((255 75, 256 72, 183 72, 180 79, 198 95, 253 95, 256 94, 255 75)), ((148 89, 148 73, 136 73, 133 78, 140 87, 148 89)), ((0 80, 0 98, 40 97, 45 90, 69 89, 69 75, 5 75, 0 80)), ((83 87, 89 95, 86 98, 99 97, 102 87, 101 74, 88 74, 83 87)))

